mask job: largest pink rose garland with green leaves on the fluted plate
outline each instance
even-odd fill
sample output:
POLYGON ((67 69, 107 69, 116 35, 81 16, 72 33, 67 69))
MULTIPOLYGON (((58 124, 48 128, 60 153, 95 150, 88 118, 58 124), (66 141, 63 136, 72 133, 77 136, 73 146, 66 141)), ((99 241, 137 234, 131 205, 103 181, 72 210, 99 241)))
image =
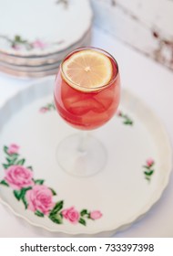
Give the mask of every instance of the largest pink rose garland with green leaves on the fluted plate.
POLYGON ((36 216, 47 216, 56 224, 62 224, 66 219, 71 224, 80 223, 86 226, 87 220, 96 220, 102 217, 99 210, 76 210, 75 207, 64 208, 64 201, 54 201, 56 191, 46 187, 45 180, 35 179, 32 166, 24 166, 25 158, 21 158, 17 144, 4 146, 6 163, 3 164, 5 177, 0 185, 13 188, 14 196, 24 203, 25 209, 33 211, 36 216))

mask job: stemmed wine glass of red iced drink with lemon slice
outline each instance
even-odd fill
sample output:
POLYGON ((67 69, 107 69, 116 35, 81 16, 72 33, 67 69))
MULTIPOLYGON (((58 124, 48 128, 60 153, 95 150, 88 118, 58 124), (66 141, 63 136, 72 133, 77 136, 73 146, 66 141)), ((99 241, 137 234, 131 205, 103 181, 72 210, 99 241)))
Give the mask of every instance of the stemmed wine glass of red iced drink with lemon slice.
POLYGON ((104 145, 89 130, 107 123, 120 97, 117 61, 99 48, 77 48, 62 61, 56 75, 56 111, 80 133, 58 144, 58 164, 72 176, 93 176, 107 163, 104 145))

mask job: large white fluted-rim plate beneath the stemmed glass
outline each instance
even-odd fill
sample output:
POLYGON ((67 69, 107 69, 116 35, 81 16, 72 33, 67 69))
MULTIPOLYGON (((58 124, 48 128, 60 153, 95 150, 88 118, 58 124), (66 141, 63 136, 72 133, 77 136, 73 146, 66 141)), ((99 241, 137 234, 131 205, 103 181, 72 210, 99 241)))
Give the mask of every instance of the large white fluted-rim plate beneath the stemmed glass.
MULTIPOLYGON (((56 191, 52 200, 63 200, 61 210, 74 207, 72 210, 78 213, 86 209, 87 214, 97 210, 99 218, 81 217, 86 220, 86 226, 69 218, 63 218, 61 225, 56 224, 46 215, 38 217, 31 209, 25 209, 22 199, 15 198, 11 184, 0 185, 1 202, 33 226, 66 236, 110 236, 126 229, 158 202, 168 185, 171 148, 162 123, 145 102, 123 90, 121 114, 92 132, 107 149, 105 169, 87 178, 68 176, 56 163, 56 146, 76 130, 64 123, 51 105, 53 87, 54 78, 39 80, 1 108, 0 163, 6 163, 5 145, 7 150, 10 144, 19 145, 18 159, 25 158, 24 166, 32 165, 34 179, 44 179, 45 186, 56 191), (132 121, 133 125, 125 121, 132 121), (151 160, 154 163, 146 169, 144 165, 149 166, 151 160), (154 172, 150 176, 145 174, 151 170, 154 172)), ((1 182, 7 170, 1 169, 1 182)))

